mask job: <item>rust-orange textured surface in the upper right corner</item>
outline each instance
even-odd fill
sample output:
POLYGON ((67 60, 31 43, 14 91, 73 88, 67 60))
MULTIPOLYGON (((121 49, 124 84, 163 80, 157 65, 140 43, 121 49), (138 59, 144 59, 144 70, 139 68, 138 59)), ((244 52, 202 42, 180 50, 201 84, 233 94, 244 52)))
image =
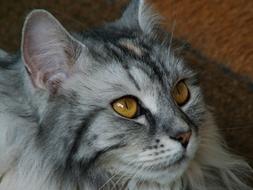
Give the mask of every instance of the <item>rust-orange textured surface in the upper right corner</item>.
POLYGON ((183 37, 208 57, 253 79, 252 0, 152 0, 183 37))

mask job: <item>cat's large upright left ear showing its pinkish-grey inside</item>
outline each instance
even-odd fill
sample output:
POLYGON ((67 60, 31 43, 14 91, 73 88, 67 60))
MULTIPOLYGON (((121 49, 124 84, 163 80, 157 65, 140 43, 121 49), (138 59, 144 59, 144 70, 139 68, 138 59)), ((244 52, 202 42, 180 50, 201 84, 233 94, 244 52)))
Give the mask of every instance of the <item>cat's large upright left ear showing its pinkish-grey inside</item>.
POLYGON ((34 10, 26 18, 21 46, 34 86, 55 93, 71 74, 82 45, 50 13, 34 10))

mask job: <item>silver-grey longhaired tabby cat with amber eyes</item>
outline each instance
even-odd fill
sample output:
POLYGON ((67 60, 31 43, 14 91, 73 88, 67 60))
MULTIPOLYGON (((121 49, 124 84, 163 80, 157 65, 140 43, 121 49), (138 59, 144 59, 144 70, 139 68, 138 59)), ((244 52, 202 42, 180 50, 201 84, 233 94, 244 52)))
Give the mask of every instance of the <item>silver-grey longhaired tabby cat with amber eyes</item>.
POLYGON ((48 12, 0 54, 0 190, 252 190, 144 0, 82 35, 48 12))

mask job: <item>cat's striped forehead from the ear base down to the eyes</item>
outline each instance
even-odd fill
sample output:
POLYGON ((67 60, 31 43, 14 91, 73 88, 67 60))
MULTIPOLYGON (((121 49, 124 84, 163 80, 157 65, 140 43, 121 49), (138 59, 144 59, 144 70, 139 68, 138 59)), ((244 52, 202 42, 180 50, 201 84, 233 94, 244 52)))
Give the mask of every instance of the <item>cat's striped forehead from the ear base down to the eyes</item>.
MULTIPOLYGON (((84 66, 68 85, 85 104, 106 106, 119 97, 133 95, 155 113, 160 100, 169 99, 175 82, 188 77, 183 61, 169 52, 169 48, 149 46, 143 40, 129 38, 101 44, 92 54, 96 57, 90 59, 89 71, 84 66)), ((80 65, 87 65, 86 55, 81 57, 80 65)))

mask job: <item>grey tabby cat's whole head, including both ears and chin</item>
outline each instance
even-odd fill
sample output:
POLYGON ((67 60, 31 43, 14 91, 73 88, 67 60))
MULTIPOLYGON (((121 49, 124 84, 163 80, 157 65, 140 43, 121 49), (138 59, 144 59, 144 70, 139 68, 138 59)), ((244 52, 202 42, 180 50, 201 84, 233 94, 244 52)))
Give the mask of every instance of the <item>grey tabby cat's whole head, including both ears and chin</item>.
POLYGON ((22 57, 45 160, 77 175, 93 167, 161 183, 182 175, 206 109, 196 75, 158 30, 142 0, 82 36, 46 11, 27 17, 22 57))

